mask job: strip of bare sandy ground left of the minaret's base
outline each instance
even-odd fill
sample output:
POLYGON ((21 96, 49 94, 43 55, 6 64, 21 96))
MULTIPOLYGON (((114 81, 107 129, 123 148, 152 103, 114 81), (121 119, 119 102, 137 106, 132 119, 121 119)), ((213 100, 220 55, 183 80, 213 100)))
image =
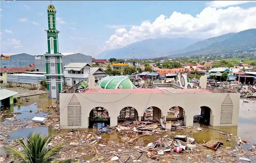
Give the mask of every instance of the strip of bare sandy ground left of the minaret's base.
POLYGON ((19 92, 14 97, 26 97, 26 96, 33 96, 33 95, 47 93, 47 91, 43 91, 43 90, 30 90, 28 88, 22 88, 22 87, 13 87, 13 88, 1 87, 1 89, 8 89, 11 91, 19 92))

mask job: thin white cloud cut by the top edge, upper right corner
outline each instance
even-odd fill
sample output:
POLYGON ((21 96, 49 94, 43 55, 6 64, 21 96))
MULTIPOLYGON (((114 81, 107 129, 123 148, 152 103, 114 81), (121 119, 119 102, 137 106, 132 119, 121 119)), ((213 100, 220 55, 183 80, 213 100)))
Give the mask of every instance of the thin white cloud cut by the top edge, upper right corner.
POLYGON ((249 3, 249 2, 256 2, 256 1, 241 1, 241 0, 236 0, 236 1, 210 1, 206 2, 205 4, 208 7, 216 7, 216 8, 221 8, 221 7, 228 7, 228 6, 236 6, 238 4, 244 4, 244 3, 249 3))

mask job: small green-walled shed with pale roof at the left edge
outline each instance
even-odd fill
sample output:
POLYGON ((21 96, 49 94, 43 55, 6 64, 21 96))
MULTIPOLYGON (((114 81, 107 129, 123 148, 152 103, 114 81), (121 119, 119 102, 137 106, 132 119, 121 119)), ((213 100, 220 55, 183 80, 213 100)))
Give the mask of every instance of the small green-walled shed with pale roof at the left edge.
POLYGON ((9 107, 13 105, 13 96, 19 92, 11 91, 8 89, 1 89, 0 91, 0 107, 6 106, 9 107))

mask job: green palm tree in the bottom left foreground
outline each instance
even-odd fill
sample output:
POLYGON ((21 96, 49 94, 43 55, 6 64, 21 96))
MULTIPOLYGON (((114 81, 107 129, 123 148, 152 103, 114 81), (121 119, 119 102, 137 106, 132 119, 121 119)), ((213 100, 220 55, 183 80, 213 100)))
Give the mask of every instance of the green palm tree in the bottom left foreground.
POLYGON ((18 140, 18 143, 23 147, 23 150, 19 152, 15 148, 4 146, 6 152, 13 156, 16 163, 71 163, 73 160, 61 160, 57 159, 60 151, 62 150, 61 144, 50 148, 48 144, 51 142, 51 137, 43 137, 40 134, 30 134, 27 137, 27 143, 23 140, 18 140))

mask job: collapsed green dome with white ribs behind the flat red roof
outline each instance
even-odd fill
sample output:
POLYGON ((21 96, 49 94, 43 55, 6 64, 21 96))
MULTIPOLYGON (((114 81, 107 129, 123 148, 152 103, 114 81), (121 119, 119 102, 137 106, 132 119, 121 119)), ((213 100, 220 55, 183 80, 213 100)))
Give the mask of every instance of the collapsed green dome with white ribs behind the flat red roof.
POLYGON ((122 85, 122 89, 138 89, 130 81, 129 76, 107 76, 98 82, 103 89, 117 89, 122 85))

